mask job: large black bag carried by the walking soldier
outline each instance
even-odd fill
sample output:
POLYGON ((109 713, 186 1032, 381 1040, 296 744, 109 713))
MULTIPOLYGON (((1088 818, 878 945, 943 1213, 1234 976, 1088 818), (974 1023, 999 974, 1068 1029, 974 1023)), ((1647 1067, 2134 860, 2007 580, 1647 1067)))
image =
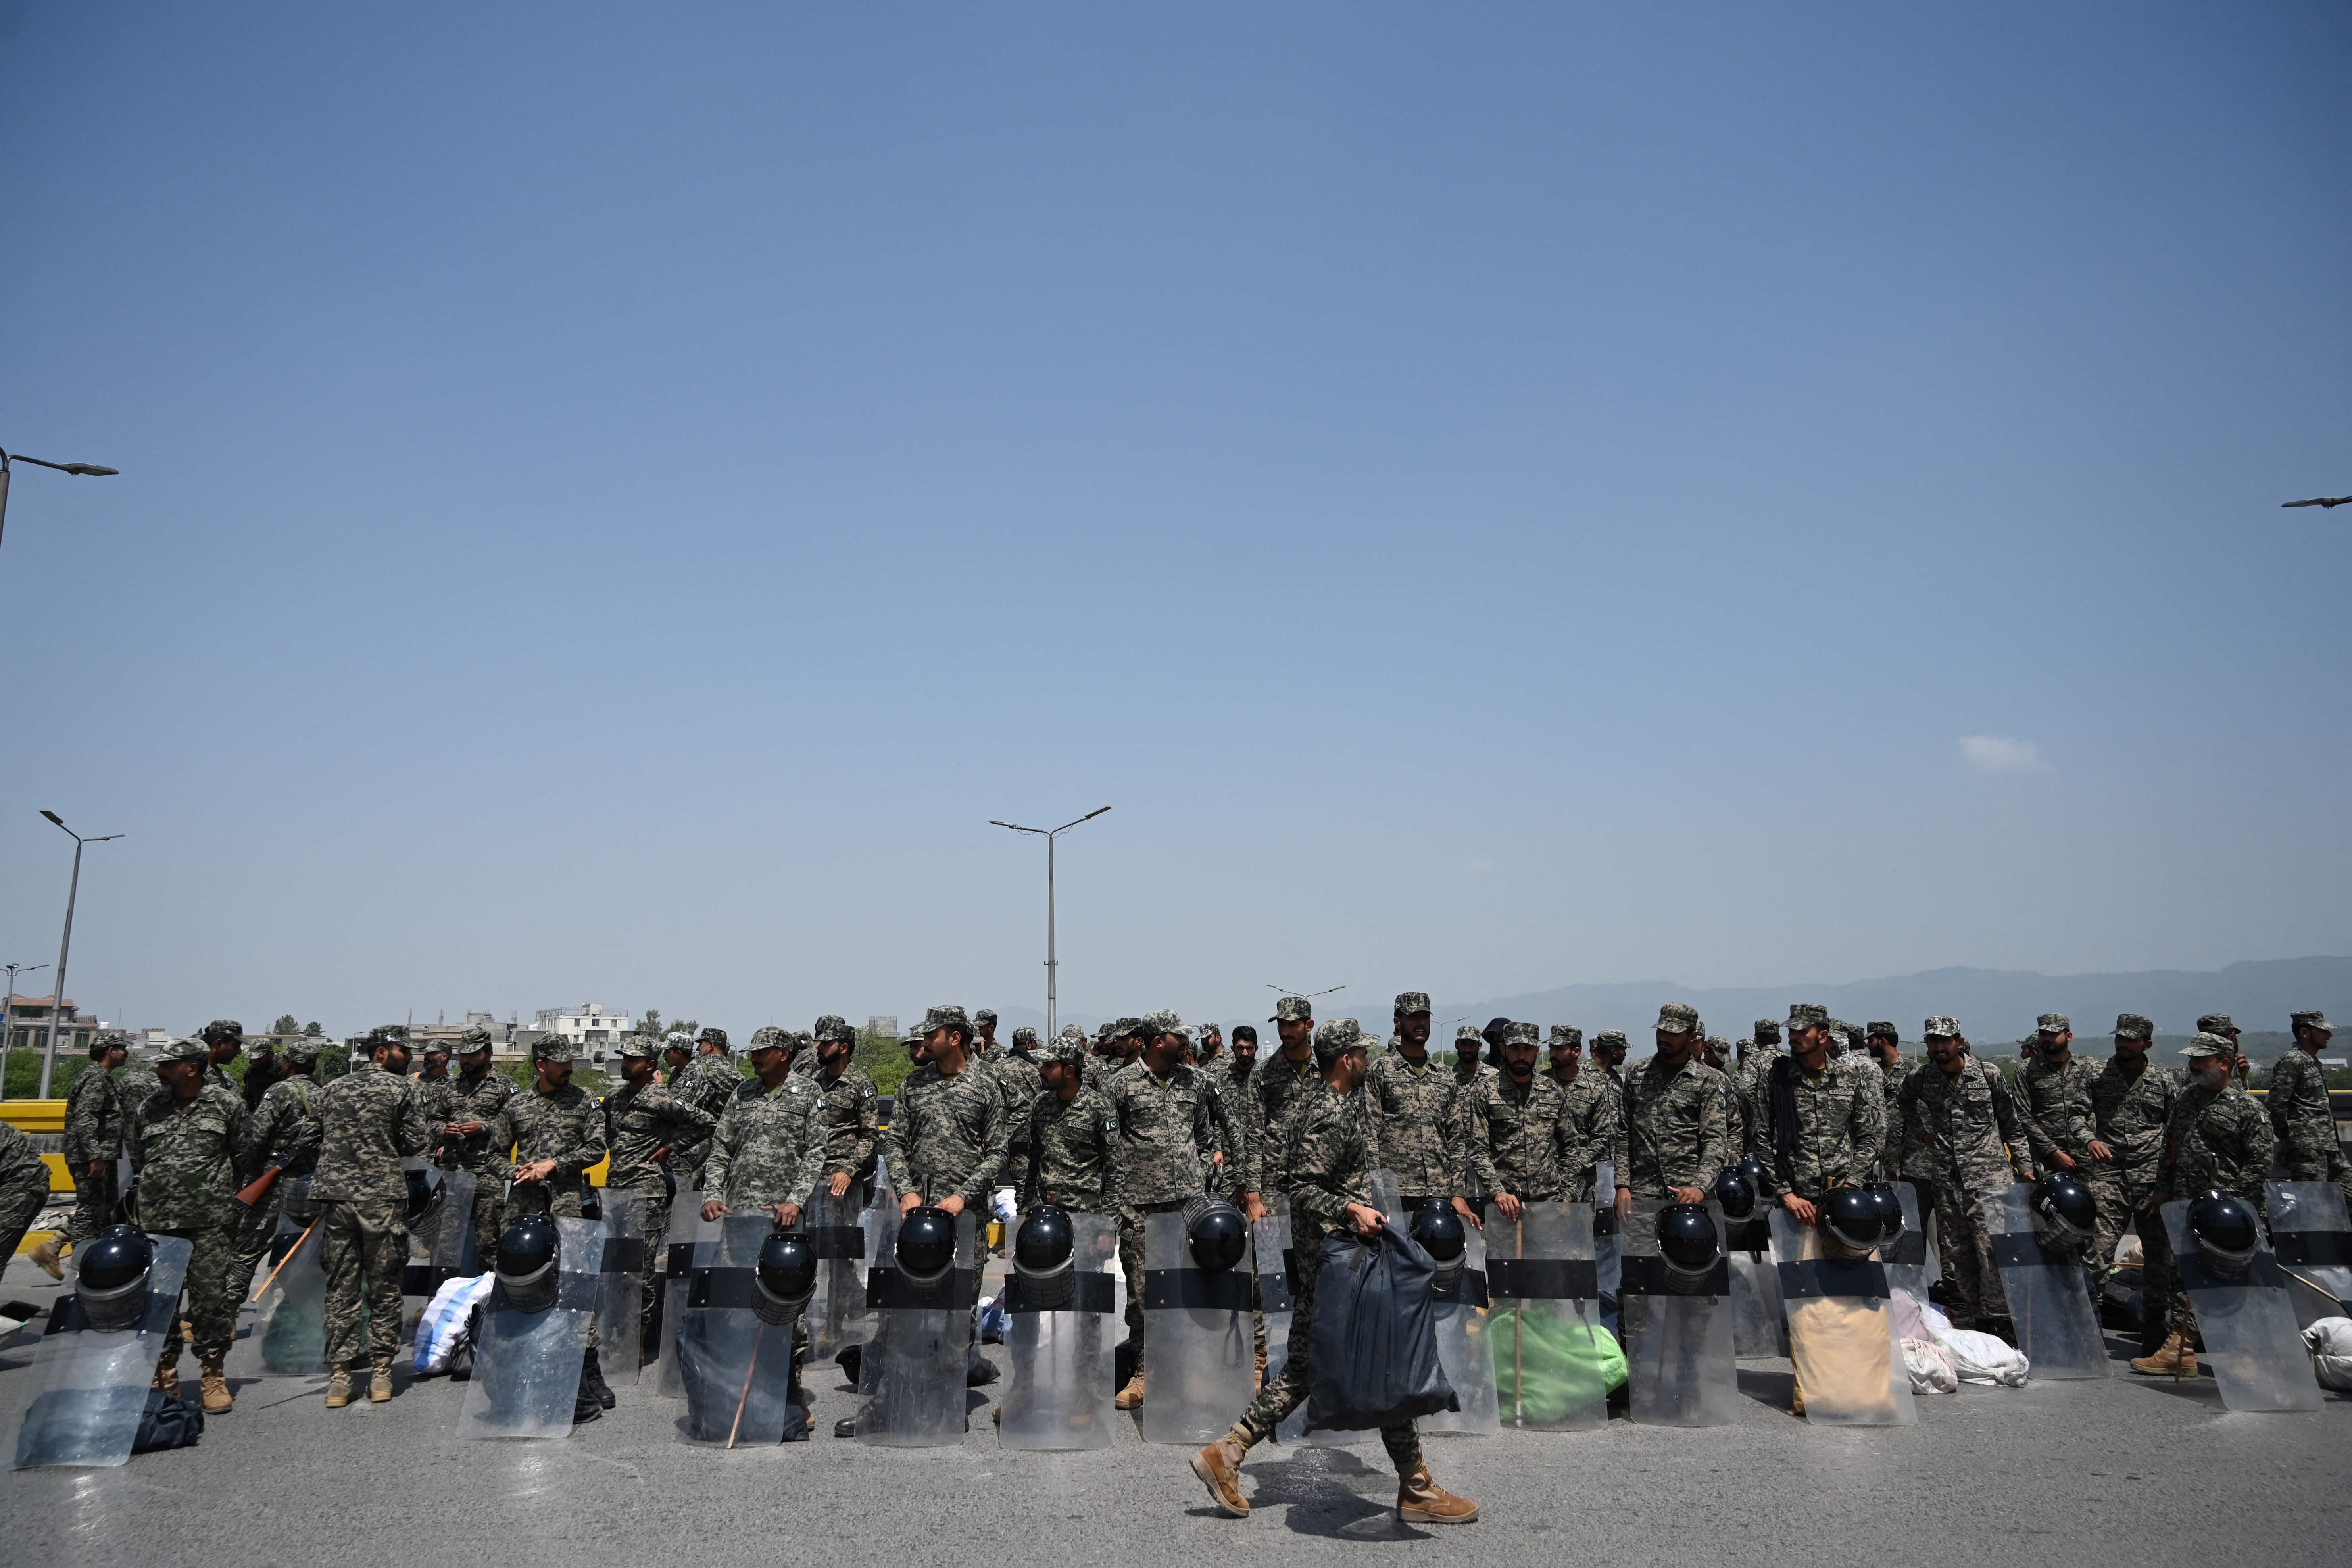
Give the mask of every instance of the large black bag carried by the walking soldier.
POLYGON ((1322 1239, 1315 1321, 1308 1326, 1308 1432, 1364 1432, 1458 1410, 1437 1363, 1437 1262, 1383 1225, 1322 1239))

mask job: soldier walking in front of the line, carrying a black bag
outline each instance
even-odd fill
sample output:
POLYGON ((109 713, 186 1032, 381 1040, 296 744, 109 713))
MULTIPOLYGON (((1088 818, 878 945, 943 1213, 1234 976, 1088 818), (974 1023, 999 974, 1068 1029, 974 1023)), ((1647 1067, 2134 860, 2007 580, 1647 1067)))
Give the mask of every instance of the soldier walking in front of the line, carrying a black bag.
MULTIPOLYGON (((1534 1032, 1534 1030, 1531 1030, 1534 1032)), ((1317 1030, 1312 1041, 1322 1067, 1315 1084, 1298 1095, 1289 1126, 1289 1199, 1291 1244, 1298 1255, 1298 1284, 1291 1293, 1291 1359, 1282 1375, 1258 1389, 1242 1420, 1218 1441, 1192 1455, 1192 1474, 1209 1488, 1209 1500, 1230 1519, 1249 1516, 1242 1497, 1244 1455, 1272 1436, 1275 1427, 1305 1403, 1312 1375, 1315 1281, 1322 1274, 1322 1239, 1341 1227, 1378 1234, 1388 1222, 1371 1206, 1374 1154, 1367 1140, 1371 1117, 1357 1103, 1357 1088, 1369 1072, 1364 1032, 1352 1018, 1336 1018, 1317 1030)), ((1526 1077, 1536 1077, 1534 1041, 1526 1044, 1526 1077)), ((1557 1093, 1557 1084, 1552 1086, 1557 1093)), ((1477 1505, 1456 1497, 1430 1479, 1421 1458, 1421 1434, 1414 1420, 1381 1427, 1381 1446, 1397 1467, 1397 1519, 1404 1523, 1470 1523, 1477 1505)))

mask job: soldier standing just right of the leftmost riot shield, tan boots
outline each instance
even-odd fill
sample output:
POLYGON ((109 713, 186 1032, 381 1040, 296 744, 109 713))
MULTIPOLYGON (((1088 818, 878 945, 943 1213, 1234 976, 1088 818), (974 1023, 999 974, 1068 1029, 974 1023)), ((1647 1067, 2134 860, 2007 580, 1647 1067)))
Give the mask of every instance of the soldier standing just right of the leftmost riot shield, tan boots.
MULTIPOLYGON (((223 1361, 238 1333, 238 1300, 228 1295, 228 1253, 238 1234, 238 1152, 245 1147, 245 1098, 207 1077, 212 1048, 174 1039, 155 1060, 162 1093, 139 1107, 129 1126, 132 1171, 139 1182, 139 1227, 151 1237, 183 1237, 188 1253, 188 1328, 202 1368, 205 1415, 230 1406, 223 1361)), ((181 1319, 155 1361, 155 1387, 179 1394, 181 1319)))

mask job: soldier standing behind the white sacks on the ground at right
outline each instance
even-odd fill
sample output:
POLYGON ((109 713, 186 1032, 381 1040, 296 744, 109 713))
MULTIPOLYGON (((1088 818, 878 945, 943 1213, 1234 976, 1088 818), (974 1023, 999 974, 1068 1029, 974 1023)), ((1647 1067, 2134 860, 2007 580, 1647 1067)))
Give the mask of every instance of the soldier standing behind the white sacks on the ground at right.
POLYGON ((2025 1117, 2002 1070, 1969 1053, 1955 1018, 1924 1025, 1929 1065, 1903 1079, 1903 1124, 1938 1152, 1936 1251, 1952 1288, 1952 1326, 2009 1328, 2009 1295, 1992 1262, 2002 1220, 1997 1194, 2011 1180, 2034 1180, 2025 1117))

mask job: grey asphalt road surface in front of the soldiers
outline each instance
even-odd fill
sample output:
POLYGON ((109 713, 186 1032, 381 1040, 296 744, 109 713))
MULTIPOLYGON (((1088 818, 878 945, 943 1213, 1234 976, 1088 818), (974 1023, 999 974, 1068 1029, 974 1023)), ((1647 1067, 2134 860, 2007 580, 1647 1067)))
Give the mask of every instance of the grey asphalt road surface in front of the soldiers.
MULTIPOLYGON (((38 1286, 33 1281, 40 1281, 38 1286)), ((5 1298, 47 1300, 14 1260, 5 1298)), ((245 1324, 252 1324, 247 1312, 245 1324)), ((2112 1342, 2122 1359, 2126 1347, 2112 1342)), ((990 1347, 1002 1359, 1002 1347, 990 1347)), ((26 1352, 0 1352, 0 1401, 26 1352)), ((193 1392, 193 1361, 183 1363, 193 1392)), ((1736 1427, 1428 1439, 1437 1479, 1484 1505, 1456 1528, 1402 1528, 1378 1441, 1261 1446, 1254 1516, 1218 1516, 1185 1450, 1000 1453, 983 1394, 960 1448, 880 1450, 830 1436, 851 1413, 811 1373, 818 1436, 755 1450, 687 1446, 682 1406, 621 1389, 567 1441, 454 1441, 461 1385, 402 1385, 327 1410, 325 1378, 238 1385, 198 1448, 122 1469, 0 1472, 7 1561, 66 1563, 2296 1563, 2352 1559, 2352 1399, 2317 1415, 2230 1415, 2211 1378, 1922 1396, 1907 1429, 1825 1429, 1785 1413, 1785 1361, 1743 1361, 1736 1427)))

